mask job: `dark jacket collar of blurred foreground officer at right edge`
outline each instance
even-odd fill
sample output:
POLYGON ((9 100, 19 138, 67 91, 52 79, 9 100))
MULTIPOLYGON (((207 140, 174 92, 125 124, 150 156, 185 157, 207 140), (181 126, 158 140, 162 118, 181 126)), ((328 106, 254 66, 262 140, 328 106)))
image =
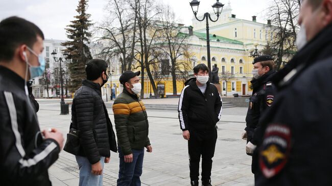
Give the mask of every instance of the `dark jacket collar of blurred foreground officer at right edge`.
POLYGON ((279 88, 289 85, 305 68, 324 58, 332 56, 332 23, 326 26, 315 38, 299 50, 293 59, 273 77, 279 88))

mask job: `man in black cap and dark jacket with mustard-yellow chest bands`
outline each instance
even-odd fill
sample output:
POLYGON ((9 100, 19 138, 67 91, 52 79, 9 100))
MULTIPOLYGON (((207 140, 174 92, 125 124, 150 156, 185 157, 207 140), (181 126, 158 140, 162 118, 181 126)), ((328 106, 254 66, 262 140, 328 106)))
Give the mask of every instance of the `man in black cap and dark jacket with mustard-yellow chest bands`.
POLYGON ((152 152, 148 137, 149 121, 139 94, 141 84, 138 72, 125 71, 120 76, 123 92, 113 103, 120 169, 117 186, 140 185, 143 169, 144 147, 152 152))

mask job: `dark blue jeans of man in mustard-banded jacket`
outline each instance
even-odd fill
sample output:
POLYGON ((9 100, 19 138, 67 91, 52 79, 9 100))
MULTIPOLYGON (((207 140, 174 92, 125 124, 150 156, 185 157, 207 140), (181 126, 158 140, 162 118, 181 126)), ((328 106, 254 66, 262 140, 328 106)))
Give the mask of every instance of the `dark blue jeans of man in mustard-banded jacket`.
POLYGON ((140 175, 142 175, 144 148, 141 150, 134 150, 133 162, 125 163, 124 154, 118 146, 118 153, 120 157, 120 169, 118 171, 117 186, 140 186, 140 175))

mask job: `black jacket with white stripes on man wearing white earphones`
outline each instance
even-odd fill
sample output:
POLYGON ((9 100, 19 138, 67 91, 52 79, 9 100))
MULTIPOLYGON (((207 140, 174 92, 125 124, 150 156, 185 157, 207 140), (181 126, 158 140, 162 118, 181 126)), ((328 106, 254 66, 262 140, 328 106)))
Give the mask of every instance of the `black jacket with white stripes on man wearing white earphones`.
POLYGON ((25 81, 0 66, 0 185, 51 185, 59 144, 43 140, 25 81))

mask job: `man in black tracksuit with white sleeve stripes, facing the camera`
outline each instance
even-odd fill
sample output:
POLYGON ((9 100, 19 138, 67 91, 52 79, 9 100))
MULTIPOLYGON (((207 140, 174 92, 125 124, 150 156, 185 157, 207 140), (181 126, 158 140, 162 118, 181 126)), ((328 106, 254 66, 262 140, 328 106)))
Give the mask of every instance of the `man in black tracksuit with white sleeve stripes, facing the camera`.
POLYGON ((215 85, 208 82, 205 64, 194 67, 194 78, 185 82, 179 100, 182 136, 188 140, 189 169, 192 185, 198 185, 202 155, 202 184, 211 185, 212 157, 217 141, 216 123, 221 117, 222 100, 215 85))

